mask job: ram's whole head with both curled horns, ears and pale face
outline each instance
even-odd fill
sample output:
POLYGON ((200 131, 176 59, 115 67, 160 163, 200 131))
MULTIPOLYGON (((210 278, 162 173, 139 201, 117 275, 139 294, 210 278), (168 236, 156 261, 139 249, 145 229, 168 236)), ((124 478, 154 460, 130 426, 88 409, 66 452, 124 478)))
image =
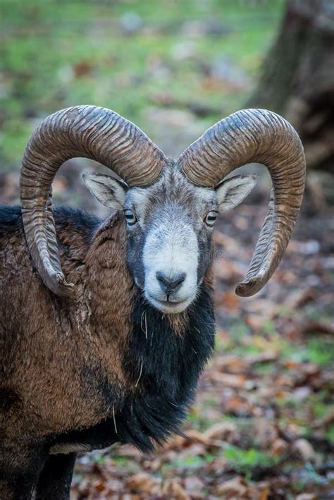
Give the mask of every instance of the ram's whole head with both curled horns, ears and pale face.
POLYGON ((228 116, 176 160, 109 109, 58 111, 30 138, 21 173, 30 254, 58 295, 72 287, 61 271, 49 194, 58 167, 72 157, 95 159, 117 174, 86 173, 84 181, 100 202, 125 214, 130 271, 147 300, 163 312, 180 312, 192 303, 211 262, 216 215, 238 205, 254 187, 254 176, 225 179, 231 171, 256 161, 273 181, 268 214, 238 295, 252 295, 270 279, 302 202, 302 144, 292 126, 270 111, 228 116))

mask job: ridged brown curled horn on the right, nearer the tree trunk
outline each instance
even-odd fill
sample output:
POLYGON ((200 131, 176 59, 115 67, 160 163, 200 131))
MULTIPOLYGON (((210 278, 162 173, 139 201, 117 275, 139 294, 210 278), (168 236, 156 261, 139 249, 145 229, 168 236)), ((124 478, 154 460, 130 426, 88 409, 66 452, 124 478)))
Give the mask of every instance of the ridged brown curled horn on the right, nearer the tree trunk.
POLYGON ((273 192, 245 280, 236 293, 254 295, 271 278, 295 226, 305 185, 305 158, 295 129, 266 109, 243 109, 219 121, 179 158, 189 181, 213 188, 234 169, 264 164, 273 192))

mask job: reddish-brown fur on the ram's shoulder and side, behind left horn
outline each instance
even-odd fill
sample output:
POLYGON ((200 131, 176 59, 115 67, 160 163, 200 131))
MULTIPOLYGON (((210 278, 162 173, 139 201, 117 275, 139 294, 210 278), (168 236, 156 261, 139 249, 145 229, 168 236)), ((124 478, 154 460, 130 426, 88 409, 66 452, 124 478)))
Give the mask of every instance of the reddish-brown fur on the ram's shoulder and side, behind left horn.
POLYGON ((56 298, 32 270, 22 228, 0 238, 0 422, 9 440, 89 427, 110 413, 99 377, 82 385, 82 367, 120 394, 131 390, 121 364, 134 293, 123 217, 106 221, 91 245, 76 228, 57 232, 71 299, 56 298))

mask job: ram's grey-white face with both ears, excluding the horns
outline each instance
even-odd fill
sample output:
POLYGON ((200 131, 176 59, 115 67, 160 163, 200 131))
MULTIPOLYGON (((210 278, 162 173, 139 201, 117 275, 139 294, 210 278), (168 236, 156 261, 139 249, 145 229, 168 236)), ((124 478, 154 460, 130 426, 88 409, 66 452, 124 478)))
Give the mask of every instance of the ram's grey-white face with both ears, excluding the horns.
POLYGON ((255 182, 252 176, 233 179, 216 189, 200 188, 171 165, 151 186, 127 188, 108 176, 86 174, 85 183, 104 205, 123 210, 129 269, 147 301, 162 312, 182 312, 196 298, 212 259, 218 212, 237 205, 255 182))

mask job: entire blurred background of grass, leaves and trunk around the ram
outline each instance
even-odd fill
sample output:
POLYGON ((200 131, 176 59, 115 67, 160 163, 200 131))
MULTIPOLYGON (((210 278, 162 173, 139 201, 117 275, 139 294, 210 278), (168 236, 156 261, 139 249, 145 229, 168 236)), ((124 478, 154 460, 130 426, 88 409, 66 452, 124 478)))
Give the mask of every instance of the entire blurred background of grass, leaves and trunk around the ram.
MULTIPOLYGON (((82 456, 73 499, 334 498, 333 0, 0 0, 0 203, 18 202, 20 161, 48 114, 109 107, 170 156, 245 106, 286 116, 308 163, 283 262, 241 299, 270 180, 216 230, 216 355, 184 430, 152 456, 82 456)), ((62 166, 54 201, 107 212, 62 166)))

